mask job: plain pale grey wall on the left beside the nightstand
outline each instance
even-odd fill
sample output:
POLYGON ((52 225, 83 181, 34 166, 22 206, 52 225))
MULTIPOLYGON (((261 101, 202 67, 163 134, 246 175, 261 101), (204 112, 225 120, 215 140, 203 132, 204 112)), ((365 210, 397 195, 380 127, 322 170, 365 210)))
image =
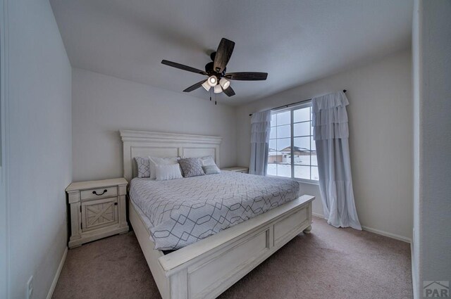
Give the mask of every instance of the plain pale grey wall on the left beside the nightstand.
POLYGON ((46 298, 67 245, 72 70, 49 1, 14 0, 7 8, 6 298, 26 298, 30 276, 32 298, 46 298))

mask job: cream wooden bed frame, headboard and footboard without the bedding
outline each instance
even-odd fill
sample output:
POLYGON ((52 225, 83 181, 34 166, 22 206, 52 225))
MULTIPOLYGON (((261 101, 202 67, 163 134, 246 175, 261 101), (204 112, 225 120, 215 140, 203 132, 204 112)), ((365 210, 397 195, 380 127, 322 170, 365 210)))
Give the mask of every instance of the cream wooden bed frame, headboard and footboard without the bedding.
MULTIPOLYGON (((221 137, 121 130, 124 177, 137 173, 135 157, 212 155, 219 166, 221 137)), ((288 243, 311 231, 311 201, 304 195, 213 236, 164 254, 128 203, 129 220, 163 299, 216 298, 288 243)))

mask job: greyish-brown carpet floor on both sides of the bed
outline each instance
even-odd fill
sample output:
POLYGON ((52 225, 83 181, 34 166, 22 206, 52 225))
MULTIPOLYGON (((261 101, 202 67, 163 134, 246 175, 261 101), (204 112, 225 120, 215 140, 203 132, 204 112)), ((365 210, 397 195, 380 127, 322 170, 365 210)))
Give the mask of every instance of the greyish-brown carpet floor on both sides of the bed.
MULTIPOLYGON (((161 298, 130 232, 68 251, 53 298, 161 298)), ((408 243, 314 218, 220 298, 412 298, 408 243)))

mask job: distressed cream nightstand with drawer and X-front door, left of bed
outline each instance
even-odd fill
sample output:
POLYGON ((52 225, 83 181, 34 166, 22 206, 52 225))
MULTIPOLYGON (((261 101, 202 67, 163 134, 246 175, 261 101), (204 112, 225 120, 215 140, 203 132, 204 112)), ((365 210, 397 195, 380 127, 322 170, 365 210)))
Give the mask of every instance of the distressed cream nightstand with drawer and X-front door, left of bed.
POLYGON ((128 231, 127 180, 75 182, 66 188, 70 205, 69 248, 128 231))

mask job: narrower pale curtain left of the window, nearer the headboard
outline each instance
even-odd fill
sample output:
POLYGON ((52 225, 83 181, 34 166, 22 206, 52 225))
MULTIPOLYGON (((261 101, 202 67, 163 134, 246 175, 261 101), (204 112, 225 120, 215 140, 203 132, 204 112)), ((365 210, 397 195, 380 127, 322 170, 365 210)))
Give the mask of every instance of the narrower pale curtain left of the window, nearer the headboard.
POLYGON ((270 131, 271 110, 252 114, 250 174, 266 175, 270 131))

